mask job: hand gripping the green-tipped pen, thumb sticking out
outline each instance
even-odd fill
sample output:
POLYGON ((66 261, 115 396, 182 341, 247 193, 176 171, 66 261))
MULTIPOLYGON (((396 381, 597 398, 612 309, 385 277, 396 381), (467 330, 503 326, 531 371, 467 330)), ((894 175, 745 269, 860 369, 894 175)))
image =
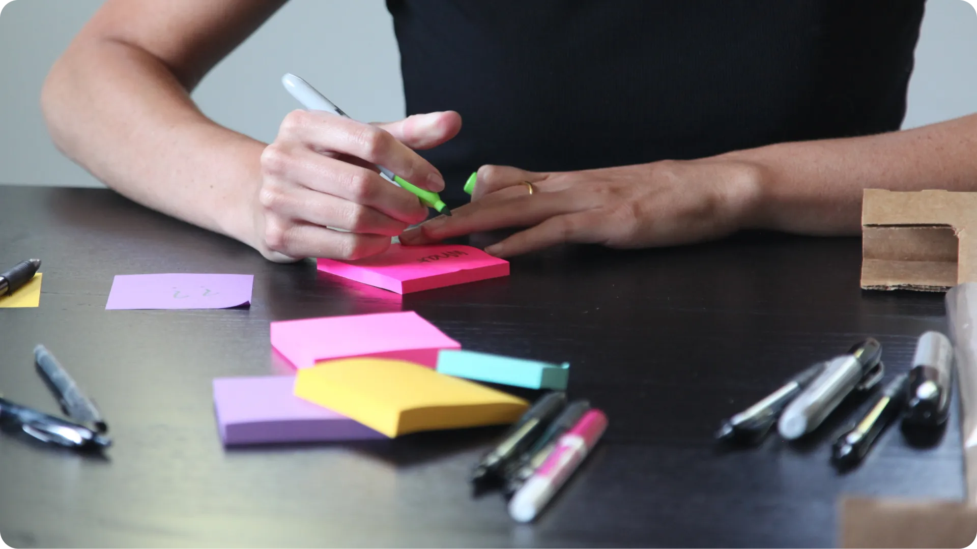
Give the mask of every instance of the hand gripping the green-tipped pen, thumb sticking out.
POLYGON ((427 207, 375 165, 422 189, 444 190, 441 173, 412 149, 437 147, 460 129, 453 111, 375 125, 323 111, 289 113, 261 155, 255 247, 279 262, 385 251, 391 236, 427 218, 427 207))

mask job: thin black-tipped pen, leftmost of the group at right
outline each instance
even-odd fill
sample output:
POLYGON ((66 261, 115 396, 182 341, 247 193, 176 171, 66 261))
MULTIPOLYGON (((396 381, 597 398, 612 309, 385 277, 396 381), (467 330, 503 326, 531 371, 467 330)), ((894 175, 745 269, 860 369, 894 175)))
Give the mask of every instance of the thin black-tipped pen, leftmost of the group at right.
POLYGON ((810 385, 814 378, 825 370, 827 364, 828 362, 814 364, 795 375, 763 400, 724 421, 719 431, 716 431, 716 439, 748 443, 755 443, 762 439, 777 423, 777 418, 786 405, 810 385))

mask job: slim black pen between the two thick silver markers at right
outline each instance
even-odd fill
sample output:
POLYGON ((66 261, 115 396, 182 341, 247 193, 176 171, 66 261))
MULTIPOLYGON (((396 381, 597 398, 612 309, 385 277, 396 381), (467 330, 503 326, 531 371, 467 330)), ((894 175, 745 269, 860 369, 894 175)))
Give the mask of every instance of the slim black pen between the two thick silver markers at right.
POLYGON ((862 421, 834 442, 831 446, 831 463, 838 469, 847 469, 862 461, 869 453, 871 444, 899 416, 906 404, 909 377, 904 373, 890 381, 862 421))

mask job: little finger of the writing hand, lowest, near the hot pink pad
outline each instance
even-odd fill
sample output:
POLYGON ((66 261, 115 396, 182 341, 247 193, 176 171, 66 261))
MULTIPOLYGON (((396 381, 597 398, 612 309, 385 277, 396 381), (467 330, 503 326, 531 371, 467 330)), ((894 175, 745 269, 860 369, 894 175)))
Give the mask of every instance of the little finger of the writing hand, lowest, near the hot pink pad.
POLYGON ((272 252, 290 258, 357 260, 385 252, 390 247, 390 236, 338 232, 315 225, 288 225, 269 219, 265 225, 265 242, 272 252))

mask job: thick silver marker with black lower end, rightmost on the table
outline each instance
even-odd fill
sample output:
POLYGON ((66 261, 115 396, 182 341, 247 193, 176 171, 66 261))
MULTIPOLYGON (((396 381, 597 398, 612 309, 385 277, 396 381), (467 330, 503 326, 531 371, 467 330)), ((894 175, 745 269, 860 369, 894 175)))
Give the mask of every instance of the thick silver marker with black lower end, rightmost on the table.
POLYGON ((950 414, 954 346, 940 332, 919 336, 907 389, 909 403, 903 423, 915 427, 939 427, 950 414))

